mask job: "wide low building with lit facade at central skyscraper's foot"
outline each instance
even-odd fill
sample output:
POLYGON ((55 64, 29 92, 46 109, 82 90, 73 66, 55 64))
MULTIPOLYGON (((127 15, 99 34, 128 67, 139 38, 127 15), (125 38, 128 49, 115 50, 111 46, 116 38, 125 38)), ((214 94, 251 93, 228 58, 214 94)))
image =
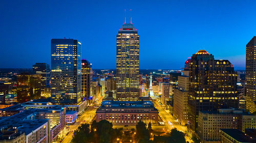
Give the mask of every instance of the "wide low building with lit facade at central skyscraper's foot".
POLYGON ((151 101, 105 100, 96 111, 96 120, 113 125, 136 125, 139 121, 158 125, 158 110, 151 101))

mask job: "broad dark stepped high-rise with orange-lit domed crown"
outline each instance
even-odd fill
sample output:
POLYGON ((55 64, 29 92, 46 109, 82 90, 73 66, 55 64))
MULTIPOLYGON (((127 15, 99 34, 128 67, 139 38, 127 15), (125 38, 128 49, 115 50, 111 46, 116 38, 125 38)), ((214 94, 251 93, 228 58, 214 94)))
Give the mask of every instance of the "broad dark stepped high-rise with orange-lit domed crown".
POLYGON ((188 127, 197 131, 199 111, 238 108, 237 74, 228 60, 215 60, 206 50, 189 63, 188 127))

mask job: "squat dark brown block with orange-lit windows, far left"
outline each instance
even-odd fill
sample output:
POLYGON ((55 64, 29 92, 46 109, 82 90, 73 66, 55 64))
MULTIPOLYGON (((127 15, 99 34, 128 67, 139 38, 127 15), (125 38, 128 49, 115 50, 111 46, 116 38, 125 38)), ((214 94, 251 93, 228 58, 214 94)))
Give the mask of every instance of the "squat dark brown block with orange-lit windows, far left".
POLYGON ((24 103, 41 97, 41 75, 22 73, 17 75, 17 102, 24 103))

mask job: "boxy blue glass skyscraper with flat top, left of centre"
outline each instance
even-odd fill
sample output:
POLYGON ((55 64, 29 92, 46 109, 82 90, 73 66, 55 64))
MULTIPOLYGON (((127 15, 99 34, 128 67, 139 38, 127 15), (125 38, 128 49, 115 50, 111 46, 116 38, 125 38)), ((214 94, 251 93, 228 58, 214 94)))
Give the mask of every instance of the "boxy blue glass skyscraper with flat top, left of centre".
POLYGON ((51 40, 51 98, 56 104, 81 102, 81 43, 51 40))

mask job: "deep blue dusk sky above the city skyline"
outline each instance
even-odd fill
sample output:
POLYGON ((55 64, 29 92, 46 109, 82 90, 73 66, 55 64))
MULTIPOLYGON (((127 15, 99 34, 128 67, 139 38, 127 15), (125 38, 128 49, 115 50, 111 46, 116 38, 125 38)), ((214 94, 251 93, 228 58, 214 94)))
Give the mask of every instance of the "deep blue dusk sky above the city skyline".
POLYGON ((200 49, 245 69, 246 44, 256 36, 255 7, 253 0, 3 0, 0 68, 50 64, 51 39, 66 37, 82 43, 82 58, 93 69, 115 69, 116 35, 124 9, 132 9, 140 35, 140 69, 180 69, 200 49))

